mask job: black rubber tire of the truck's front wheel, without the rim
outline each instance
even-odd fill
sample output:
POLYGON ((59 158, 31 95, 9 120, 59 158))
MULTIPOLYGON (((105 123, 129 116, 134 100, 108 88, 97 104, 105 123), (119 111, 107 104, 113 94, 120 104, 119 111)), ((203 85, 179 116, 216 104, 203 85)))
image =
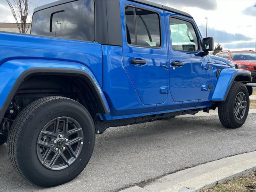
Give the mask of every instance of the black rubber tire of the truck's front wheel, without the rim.
POLYGON ((249 93, 246 86, 241 82, 234 82, 228 92, 226 101, 220 102, 218 104, 218 115, 220 122, 226 128, 238 128, 241 127, 248 116, 250 108, 249 93), (246 99, 246 108, 244 110, 244 115, 241 119, 238 119, 235 115, 235 100, 236 96, 242 92, 244 94, 244 99, 246 99))

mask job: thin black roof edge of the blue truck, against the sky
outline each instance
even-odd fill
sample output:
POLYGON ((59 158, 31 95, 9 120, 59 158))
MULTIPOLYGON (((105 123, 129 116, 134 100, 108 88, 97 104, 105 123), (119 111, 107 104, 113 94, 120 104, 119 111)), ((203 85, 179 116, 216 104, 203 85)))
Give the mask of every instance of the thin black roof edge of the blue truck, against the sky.
MULTIPOLYGON (((72 2, 72 1, 74 1, 74 0, 57 0, 57 1, 54 1, 54 2, 51 2, 51 3, 48 3, 48 4, 45 4, 45 5, 42 5, 42 6, 39 6, 39 7, 35 8, 34 12, 37 12, 39 10, 46 9, 46 8, 49 8, 49 7, 53 7, 53 6, 56 6, 56 5, 64 4, 64 3, 67 3, 67 2, 72 2)), ((180 15, 183 15, 183 16, 193 18, 190 14, 188 14, 186 12, 183 12, 183 11, 180 11, 180 10, 177 10, 177 9, 165 6, 165 5, 161 5, 161 4, 158 4, 158 3, 154 3, 154 2, 151 2, 151 1, 148 1, 148 0, 129 0, 129 1, 138 2, 138 3, 144 4, 144 5, 149 5, 149 6, 152 6, 152 7, 160 8, 162 10, 167 10, 167 11, 170 11, 170 12, 173 12, 173 13, 177 13, 177 14, 180 14, 180 15)))

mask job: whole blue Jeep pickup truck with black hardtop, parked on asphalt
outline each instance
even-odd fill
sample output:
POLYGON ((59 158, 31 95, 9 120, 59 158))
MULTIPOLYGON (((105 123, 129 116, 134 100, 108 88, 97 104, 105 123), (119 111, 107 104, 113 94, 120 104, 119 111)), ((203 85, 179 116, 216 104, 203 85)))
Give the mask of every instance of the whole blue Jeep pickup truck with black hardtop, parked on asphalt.
POLYGON ((249 71, 209 55, 192 16, 144 0, 60 0, 34 10, 31 34, 0 33, 0 144, 39 186, 78 176, 95 135, 218 108, 242 126, 249 71))

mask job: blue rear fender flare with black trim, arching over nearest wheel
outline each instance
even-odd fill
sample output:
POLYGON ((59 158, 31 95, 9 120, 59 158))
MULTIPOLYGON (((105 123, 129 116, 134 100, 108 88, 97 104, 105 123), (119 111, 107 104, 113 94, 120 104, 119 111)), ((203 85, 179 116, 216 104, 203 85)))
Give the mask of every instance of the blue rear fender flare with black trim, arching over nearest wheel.
POLYGON ((104 112, 110 108, 100 84, 91 70, 83 64, 61 60, 16 59, 9 60, 0 66, 0 120, 4 116, 14 94, 21 82, 31 74, 56 73, 58 75, 81 76, 90 81, 104 112))

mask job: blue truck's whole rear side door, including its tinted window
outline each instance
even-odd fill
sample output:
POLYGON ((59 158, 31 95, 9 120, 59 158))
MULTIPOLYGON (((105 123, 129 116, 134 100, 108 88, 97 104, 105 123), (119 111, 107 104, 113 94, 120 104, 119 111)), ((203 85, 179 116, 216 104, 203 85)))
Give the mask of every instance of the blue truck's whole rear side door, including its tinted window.
POLYGON ((120 4, 124 15, 124 69, 143 104, 164 103, 168 94, 168 52, 163 10, 131 1, 120 4))

